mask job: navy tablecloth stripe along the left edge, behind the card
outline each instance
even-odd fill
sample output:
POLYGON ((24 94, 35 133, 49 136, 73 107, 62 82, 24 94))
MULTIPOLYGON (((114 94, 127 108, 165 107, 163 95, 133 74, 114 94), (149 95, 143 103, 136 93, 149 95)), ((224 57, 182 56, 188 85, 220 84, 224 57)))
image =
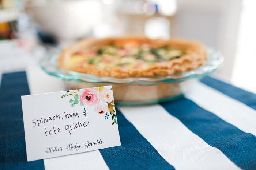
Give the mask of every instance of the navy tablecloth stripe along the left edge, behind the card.
POLYGON ((0 88, 0 169, 44 169, 44 161, 27 162, 22 95, 28 95, 25 72, 3 74, 0 88))

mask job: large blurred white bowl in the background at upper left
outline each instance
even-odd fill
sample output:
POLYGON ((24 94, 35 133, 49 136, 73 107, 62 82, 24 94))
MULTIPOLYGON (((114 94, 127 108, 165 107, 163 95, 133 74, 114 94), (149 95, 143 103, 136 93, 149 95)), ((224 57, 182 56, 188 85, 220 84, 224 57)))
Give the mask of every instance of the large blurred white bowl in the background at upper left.
POLYGON ((30 3, 26 9, 39 25, 40 31, 59 41, 72 41, 88 35, 102 16, 102 4, 98 0, 30 3))

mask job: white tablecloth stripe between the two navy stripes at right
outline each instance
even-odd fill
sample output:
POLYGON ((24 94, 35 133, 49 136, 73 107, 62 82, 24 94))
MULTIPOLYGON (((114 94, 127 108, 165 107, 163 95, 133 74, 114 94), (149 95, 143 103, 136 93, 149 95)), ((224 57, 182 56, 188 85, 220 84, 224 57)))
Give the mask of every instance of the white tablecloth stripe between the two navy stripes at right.
POLYGON ((244 103, 201 82, 196 82, 193 90, 187 93, 185 97, 240 130, 256 135, 256 110, 244 103))

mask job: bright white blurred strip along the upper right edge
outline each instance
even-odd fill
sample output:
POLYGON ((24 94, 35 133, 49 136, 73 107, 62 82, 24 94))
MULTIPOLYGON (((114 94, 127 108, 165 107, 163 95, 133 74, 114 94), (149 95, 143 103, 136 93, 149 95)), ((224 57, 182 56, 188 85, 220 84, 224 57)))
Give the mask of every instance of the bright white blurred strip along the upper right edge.
POLYGON ((231 82, 256 93, 256 1, 243 0, 231 82))

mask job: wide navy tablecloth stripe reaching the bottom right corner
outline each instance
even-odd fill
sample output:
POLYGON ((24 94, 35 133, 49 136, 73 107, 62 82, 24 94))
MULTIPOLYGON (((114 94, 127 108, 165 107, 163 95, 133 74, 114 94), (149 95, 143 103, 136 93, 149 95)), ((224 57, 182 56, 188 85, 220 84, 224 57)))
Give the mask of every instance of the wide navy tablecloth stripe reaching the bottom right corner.
POLYGON ((160 104, 206 143, 221 150, 241 169, 256 169, 254 135, 241 131, 185 98, 160 104))

